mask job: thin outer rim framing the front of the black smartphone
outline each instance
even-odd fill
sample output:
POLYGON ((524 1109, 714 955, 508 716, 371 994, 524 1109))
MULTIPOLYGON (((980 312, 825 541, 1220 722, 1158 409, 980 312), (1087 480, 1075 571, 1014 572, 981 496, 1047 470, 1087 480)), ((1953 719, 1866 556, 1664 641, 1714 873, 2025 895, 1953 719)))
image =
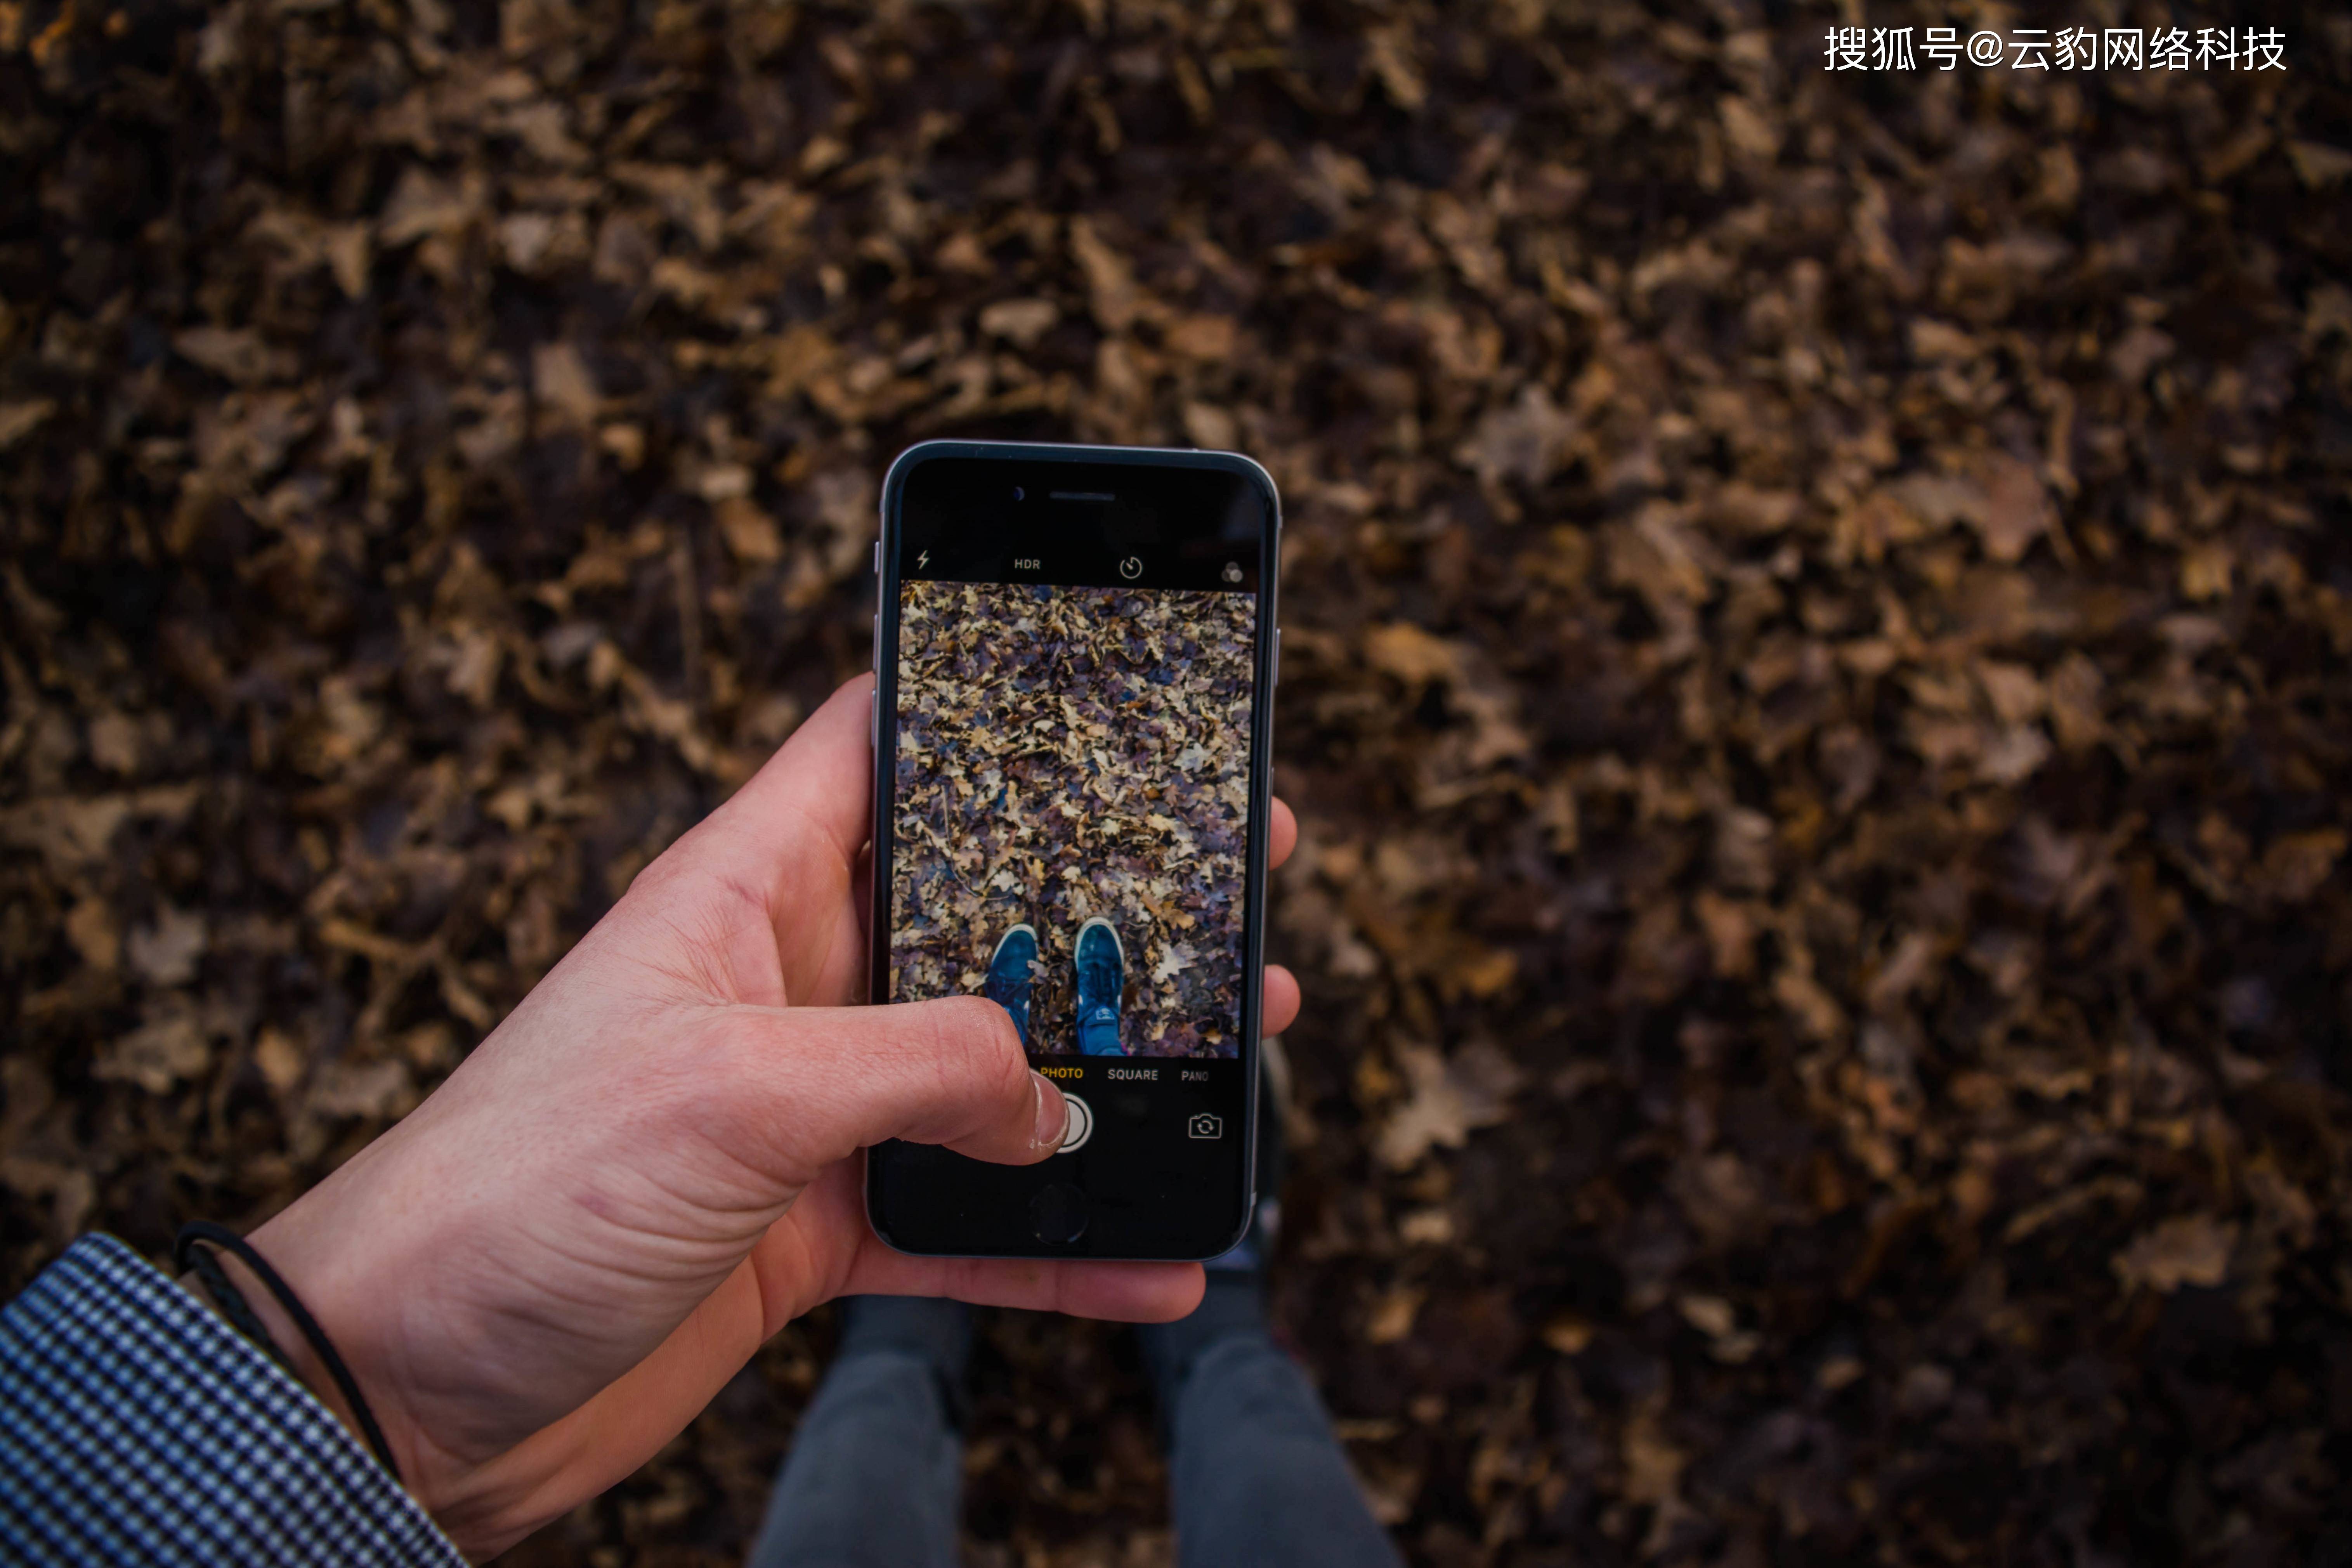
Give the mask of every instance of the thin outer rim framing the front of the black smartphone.
POLYGON ((1004 463, 1028 463, 1028 465, 1051 465, 1051 463, 1087 463, 1087 465, 1136 465, 1136 468, 1207 468, 1218 473, 1230 473, 1244 480, 1258 491, 1265 508, 1265 529, 1258 536, 1258 635, 1254 649, 1254 682, 1256 701, 1251 701, 1251 733, 1249 733, 1249 776, 1251 776, 1251 804, 1249 804, 1249 849, 1244 865, 1244 891, 1242 891, 1242 1067, 1244 1067, 1244 1117, 1242 1117, 1242 1211, 1232 1215, 1230 1232, 1225 1241, 1204 1251, 1183 1253, 1105 1253, 1105 1251, 1073 1251, 1068 1246, 1054 1246, 1040 1241, 1035 1248, 1016 1251, 948 1251, 948 1248, 915 1248, 903 1244, 891 1234, 889 1215, 882 1211, 880 1201, 880 1173, 877 1166, 889 1159, 889 1147, 868 1150, 866 1168, 866 1220, 873 1225, 875 1237, 884 1246, 922 1255, 922 1258, 1087 1258, 1108 1262, 1202 1262, 1216 1258, 1218 1253, 1237 1246, 1244 1234, 1249 1234, 1249 1220, 1256 1213, 1256 1159, 1258 1159, 1258 1088, 1263 1084, 1263 1063, 1258 1032, 1263 1027, 1265 1006, 1265 893, 1268 893, 1268 816, 1272 811, 1272 736, 1275 736, 1275 677, 1277 677, 1277 639, 1279 639, 1279 614, 1277 614, 1277 576, 1282 562, 1282 496, 1275 489, 1272 475, 1265 473, 1256 461, 1237 451, 1197 451, 1183 447, 1084 447, 1084 444, 1054 444, 1054 442, 920 442, 908 447, 891 461, 889 473, 882 477, 882 531, 875 550, 875 642, 873 642, 873 668, 875 668, 875 698, 873 698, 873 882, 870 882, 870 919, 868 919, 868 997, 882 999, 889 994, 889 867, 891 867, 891 823, 889 823, 889 799, 891 799, 891 762, 896 757, 896 693, 898 693, 898 531, 901 531, 901 503, 906 498, 906 482, 922 463, 938 458, 988 458, 1004 463))

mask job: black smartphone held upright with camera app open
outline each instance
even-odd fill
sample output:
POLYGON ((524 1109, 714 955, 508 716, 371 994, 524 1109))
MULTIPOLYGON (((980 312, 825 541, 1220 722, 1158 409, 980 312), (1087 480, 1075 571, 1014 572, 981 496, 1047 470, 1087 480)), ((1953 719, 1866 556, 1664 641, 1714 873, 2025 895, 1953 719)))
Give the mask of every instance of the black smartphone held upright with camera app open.
POLYGON ((1282 508, 1228 451, 924 442, 875 552, 875 1001, 981 994, 1061 1152, 868 1152, 906 1253, 1214 1258, 1254 1208, 1282 508))

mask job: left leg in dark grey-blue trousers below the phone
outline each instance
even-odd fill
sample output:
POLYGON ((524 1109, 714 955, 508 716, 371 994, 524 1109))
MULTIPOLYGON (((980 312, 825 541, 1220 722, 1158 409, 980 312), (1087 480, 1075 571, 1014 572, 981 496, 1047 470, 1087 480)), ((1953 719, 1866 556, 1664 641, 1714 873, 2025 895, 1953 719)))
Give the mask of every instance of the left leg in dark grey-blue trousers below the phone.
POLYGON ((955 1568, 969 1312, 868 1295, 776 1474, 748 1568, 955 1568))

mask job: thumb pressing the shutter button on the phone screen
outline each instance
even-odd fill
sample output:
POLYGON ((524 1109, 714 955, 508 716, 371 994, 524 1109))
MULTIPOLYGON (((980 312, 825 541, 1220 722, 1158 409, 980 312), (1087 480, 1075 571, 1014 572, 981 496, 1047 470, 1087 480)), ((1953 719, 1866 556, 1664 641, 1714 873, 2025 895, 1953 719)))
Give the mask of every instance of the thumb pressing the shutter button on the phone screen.
MULTIPOLYGON (((997 1166, 1061 1147, 1068 1103, 1030 1072, 1014 1020, 985 997, 891 1006, 741 1009, 762 1020, 750 1074, 764 1135, 816 1166, 903 1138, 997 1166)), ((746 1084, 750 1086, 750 1084, 746 1084)))

